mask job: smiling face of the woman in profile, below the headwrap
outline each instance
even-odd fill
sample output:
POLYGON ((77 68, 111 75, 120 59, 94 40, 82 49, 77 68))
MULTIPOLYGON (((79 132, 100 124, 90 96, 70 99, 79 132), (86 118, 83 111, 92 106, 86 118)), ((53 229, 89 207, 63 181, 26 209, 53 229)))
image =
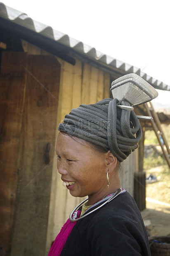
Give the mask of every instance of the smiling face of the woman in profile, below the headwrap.
POLYGON ((88 195, 94 201, 100 198, 107 187, 106 153, 97 152, 84 140, 74 140, 65 133, 58 135, 56 153, 61 180, 70 194, 74 197, 88 195))

